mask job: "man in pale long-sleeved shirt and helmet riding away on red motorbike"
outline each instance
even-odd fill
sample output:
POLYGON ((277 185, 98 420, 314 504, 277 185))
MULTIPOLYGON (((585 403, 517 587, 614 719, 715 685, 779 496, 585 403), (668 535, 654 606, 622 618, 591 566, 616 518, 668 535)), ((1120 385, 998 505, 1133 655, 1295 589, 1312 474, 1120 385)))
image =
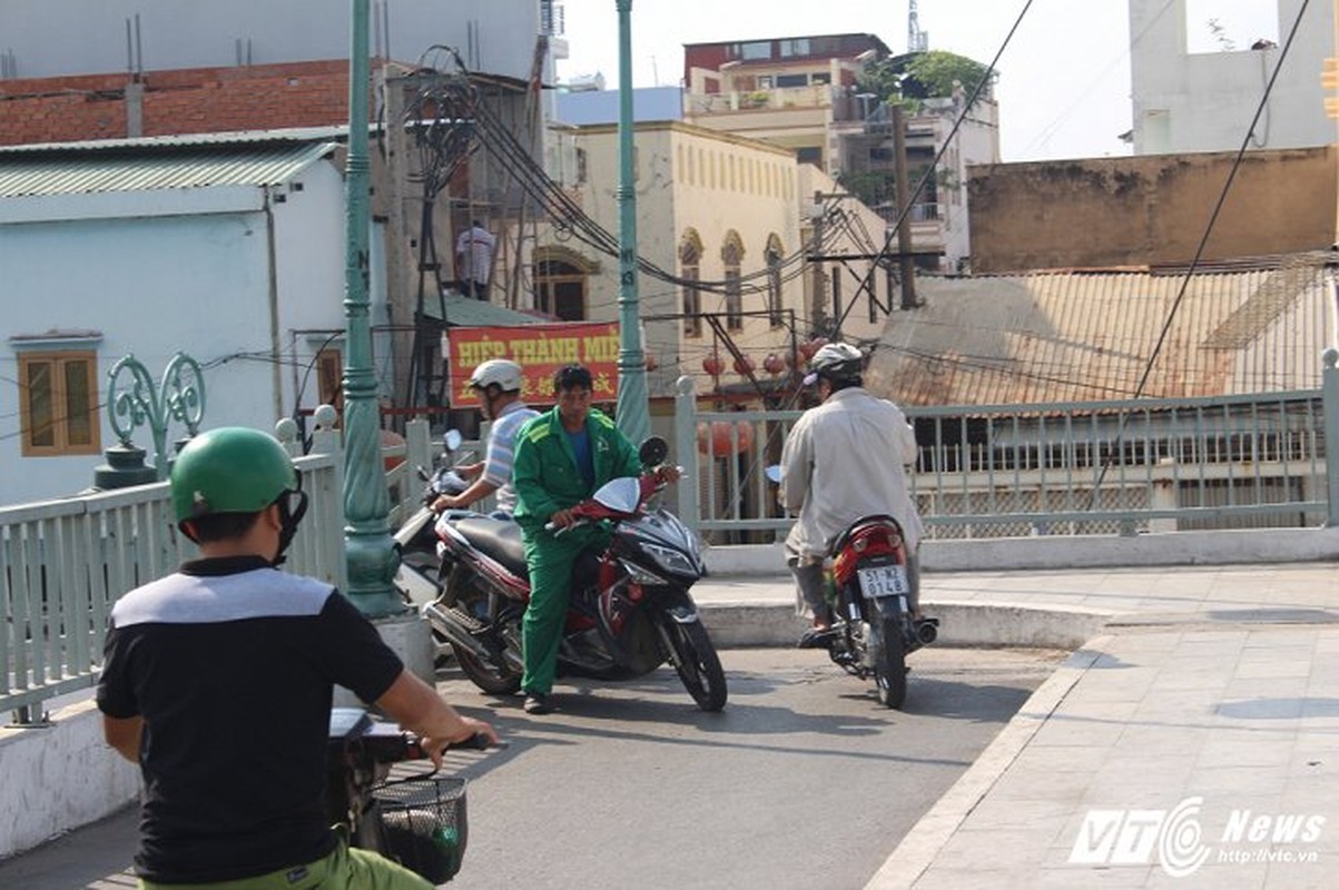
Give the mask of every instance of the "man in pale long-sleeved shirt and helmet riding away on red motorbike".
POLYGON ((865 389, 864 364, 861 351, 846 343, 814 353, 805 385, 818 385, 822 404, 795 422, 781 455, 782 501, 798 513, 786 535, 786 562, 802 605, 813 612, 801 646, 822 645, 832 628, 823 559, 837 535, 861 517, 886 514, 901 523, 912 612, 920 614, 921 522, 905 471, 916 462, 916 435, 901 408, 865 389))

